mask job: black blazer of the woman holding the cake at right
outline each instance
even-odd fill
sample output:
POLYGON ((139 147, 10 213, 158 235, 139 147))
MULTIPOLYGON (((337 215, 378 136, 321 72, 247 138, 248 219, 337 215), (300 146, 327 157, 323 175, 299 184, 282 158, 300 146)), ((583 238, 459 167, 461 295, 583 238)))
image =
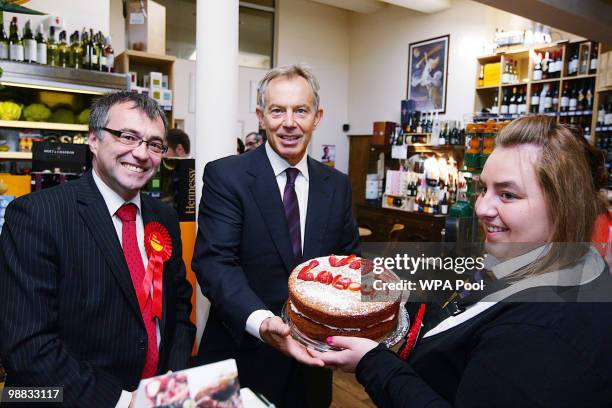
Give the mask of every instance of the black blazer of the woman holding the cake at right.
POLYGON ((610 407, 611 293, 608 268, 582 286, 529 289, 420 339, 407 363, 378 346, 355 375, 378 407, 610 407))

